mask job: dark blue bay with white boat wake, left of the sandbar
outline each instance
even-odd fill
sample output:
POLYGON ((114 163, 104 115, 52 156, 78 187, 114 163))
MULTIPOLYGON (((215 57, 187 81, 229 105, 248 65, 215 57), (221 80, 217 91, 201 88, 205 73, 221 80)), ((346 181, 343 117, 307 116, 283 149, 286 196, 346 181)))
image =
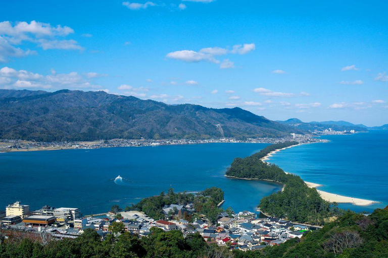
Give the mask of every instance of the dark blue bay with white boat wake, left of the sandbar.
POLYGON ((223 207, 251 210, 260 199, 281 189, 272 182, 229 179, 226 168, 268 144, 217 143, 140 148, 104 148, 0 154, 0 210, 22 201, 32 209, 44 205, 76 207, 86 214, 121 207, 170 187, 200 191, 221 187, 223 207), (120 175, 123 180, 114 180, 120 175))

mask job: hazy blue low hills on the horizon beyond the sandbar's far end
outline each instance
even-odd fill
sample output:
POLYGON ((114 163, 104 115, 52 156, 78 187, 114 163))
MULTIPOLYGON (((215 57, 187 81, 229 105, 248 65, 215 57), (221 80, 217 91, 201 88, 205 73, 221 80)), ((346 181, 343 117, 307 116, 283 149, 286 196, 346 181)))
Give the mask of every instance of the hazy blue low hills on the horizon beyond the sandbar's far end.
POLYGON ((354 130, 356 132, 366 132, 368 131, 368 127, 361 124, 356 125, 346 121, 324 121, 324 122, 303 122, 298 118, 290 118, 285 121, 277 121, 282 124, 286 124, 289 126, 294 126, 300 130, 308 131, 308 132, 322 132, 325 130, 329 130, 331 128, 334 131, 350 131, 354 130))

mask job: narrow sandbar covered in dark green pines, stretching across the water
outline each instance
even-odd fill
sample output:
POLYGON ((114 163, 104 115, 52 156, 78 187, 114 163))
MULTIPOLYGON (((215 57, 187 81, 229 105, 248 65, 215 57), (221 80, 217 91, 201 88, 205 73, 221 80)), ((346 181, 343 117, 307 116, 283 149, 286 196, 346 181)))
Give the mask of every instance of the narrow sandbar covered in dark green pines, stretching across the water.
POLYGON ((315 188, 310 188, 297 175, 287 174, 275 164, 262 161, 271 151, 297 145, 285 142, 270 145, 246 158, 235 158, 226 175, 236 178, 271 180, 284 185, 282 191, 272 193, 260 201, 260 210, 279 218, 300 223, 323 225, 330 217, 342 213, 337 205, 323 200, 315 188))

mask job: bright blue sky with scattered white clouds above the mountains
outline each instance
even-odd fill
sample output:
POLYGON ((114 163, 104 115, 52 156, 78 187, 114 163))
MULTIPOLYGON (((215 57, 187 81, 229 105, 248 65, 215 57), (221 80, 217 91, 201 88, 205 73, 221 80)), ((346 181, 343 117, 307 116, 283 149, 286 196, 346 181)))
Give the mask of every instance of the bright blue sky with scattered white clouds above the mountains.
POLYGON ((381 125, 386 10, 373 0, 5 1, 0 88, 381 125))

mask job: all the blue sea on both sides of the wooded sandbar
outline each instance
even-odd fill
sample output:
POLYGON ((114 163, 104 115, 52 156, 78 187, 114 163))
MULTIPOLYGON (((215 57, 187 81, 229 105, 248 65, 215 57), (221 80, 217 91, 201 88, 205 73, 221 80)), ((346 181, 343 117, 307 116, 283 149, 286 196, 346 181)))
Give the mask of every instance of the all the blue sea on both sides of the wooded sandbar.
MULTIPOLYGON (((325 136, 328 143, 306 144, 276 153, 269 162, 324 191, 378 201, 370 206, 341 204, 370 212, 388 201, 388 131, 325 136)), ((125 208, 142 198, 174 191, 224 191, 224 209, 254 211, 281 185, 224 176, 235 157, 268 144, 212 143, 0 153, 0 210, 15 201, 30 205, 79 208, 83 215, 125 208), (118 177, 120 176, 120 177, 118 177)))

